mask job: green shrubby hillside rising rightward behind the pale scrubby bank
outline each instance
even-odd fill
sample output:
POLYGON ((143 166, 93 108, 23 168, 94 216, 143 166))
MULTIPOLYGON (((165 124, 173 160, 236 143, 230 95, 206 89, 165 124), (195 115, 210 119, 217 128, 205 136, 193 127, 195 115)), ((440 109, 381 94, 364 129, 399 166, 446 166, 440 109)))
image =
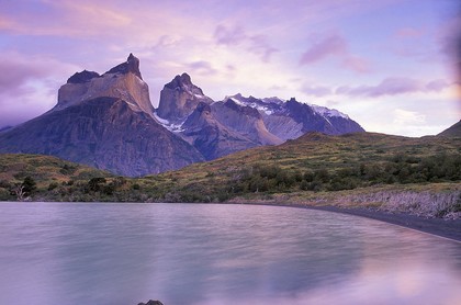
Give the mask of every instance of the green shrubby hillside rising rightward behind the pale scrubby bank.
POLYGON ((222 201, 376 184, 461 181, 461 138, 310 133, 146 178, 166 201, 222 201))

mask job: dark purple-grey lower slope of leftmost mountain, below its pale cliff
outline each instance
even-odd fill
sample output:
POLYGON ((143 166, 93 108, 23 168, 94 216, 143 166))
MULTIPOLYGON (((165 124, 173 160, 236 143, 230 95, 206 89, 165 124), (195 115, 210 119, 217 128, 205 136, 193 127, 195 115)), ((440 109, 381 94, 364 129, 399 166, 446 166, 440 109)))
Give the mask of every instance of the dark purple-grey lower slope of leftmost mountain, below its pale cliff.
POLYGON ((97 98, 29 121, 0 137, 0 151, 52 155, 138 177, 202 161, 188 143, 116 98, 97 98))

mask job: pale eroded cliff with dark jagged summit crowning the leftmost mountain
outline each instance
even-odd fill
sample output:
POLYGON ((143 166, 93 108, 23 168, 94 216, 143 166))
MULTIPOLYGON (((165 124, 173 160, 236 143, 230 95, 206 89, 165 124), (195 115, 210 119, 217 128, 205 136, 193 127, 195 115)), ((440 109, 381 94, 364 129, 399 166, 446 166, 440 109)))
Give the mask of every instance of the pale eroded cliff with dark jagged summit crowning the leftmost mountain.
POLYGON ((149 87, 139 71, 139 59, 130 54, 127 60, 100 76, 93 71, 77 72, 61 86, 58 103, 53 110, 63 110, 83 101, 110 97, 125 101, 133 111, 153 115, 149 87))

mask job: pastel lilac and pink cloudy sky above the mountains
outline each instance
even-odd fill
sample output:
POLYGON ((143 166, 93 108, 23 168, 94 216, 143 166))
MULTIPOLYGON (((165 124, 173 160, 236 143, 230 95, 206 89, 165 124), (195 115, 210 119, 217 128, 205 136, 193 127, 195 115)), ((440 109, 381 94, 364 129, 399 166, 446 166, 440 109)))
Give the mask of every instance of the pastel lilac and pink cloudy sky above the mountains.
POLYGON ((188 72, 214 100, 279 97, 423 136, 461 118, 456 0, 0 0, 0 127, 57 102, 76 71, 140 59, 159 92, 188 72))

